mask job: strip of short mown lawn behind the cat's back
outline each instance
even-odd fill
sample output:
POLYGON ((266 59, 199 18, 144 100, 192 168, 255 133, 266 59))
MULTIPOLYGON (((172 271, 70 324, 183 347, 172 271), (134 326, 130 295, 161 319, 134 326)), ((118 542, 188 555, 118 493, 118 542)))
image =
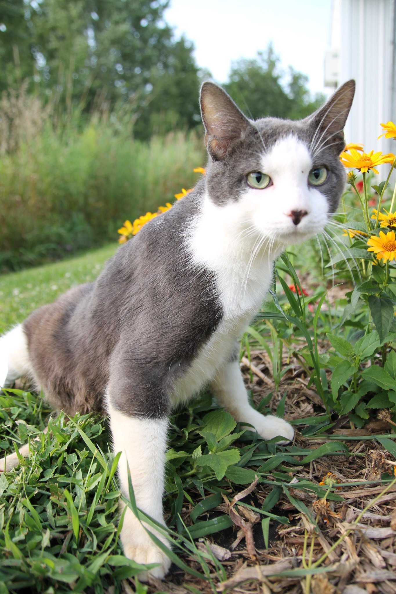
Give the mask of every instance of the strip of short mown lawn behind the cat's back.
POLYGON ((116 243, 37 268, 0 277, 0 334, 33 309, 55 301, 70 287, 94 280, 116 251, 116 243))

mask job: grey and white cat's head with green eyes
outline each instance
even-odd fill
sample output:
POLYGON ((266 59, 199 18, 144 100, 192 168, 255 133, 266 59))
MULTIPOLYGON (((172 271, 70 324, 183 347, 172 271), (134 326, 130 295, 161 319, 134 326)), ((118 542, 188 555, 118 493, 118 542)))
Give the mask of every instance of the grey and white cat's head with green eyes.
POLYGON ((210 200, 275 243, 293 244, 324 229, 346 182, 339 157, 354 89, 350 80, 321 109, 299 121, 251 121, 225 91, 204 83, 201 112, 210 200))

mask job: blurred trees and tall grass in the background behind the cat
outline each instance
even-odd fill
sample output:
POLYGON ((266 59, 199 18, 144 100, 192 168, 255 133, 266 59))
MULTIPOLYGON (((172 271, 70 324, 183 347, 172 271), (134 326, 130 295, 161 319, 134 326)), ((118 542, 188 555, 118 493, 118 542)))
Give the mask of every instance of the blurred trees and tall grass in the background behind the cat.
MULTIPOLYGON (((0 271, 103 244, 194 184, 211 74, 168 4, 0 0, 0 271)), ((296 119, 323 100, 306 83, 268 46, 223 86, 249 117, 296 119)))

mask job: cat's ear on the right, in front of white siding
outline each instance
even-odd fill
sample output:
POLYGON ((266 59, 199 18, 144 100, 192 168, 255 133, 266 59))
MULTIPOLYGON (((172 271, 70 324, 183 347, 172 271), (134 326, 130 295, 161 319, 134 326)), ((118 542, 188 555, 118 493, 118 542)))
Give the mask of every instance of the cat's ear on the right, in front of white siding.
POLYGON ((325 105, 306 121, 312 127, 312 152, 325 144, 340 154, 345 148, 344 126, 349 115, 355 92, 355 81, 344 83, 325 105))

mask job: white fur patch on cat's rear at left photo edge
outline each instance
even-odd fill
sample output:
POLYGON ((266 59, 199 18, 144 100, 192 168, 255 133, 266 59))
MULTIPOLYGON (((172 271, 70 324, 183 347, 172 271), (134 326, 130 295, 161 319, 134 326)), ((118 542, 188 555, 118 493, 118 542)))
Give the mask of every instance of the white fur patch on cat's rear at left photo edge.
POLYGON ((31 372, 27 338, 20 324, 0 337, 0 387, 31 372))

